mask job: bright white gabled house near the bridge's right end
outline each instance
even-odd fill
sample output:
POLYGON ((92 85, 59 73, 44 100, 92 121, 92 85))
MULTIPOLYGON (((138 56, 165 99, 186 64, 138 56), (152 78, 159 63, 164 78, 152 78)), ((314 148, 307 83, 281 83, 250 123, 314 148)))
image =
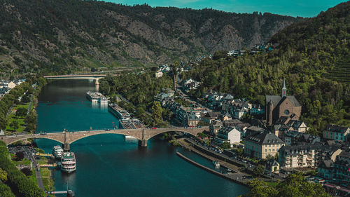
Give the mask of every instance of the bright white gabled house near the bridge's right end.
POLYGON ((233 147, 233 144, 239 144, 241 142, 241 133, 236 128, 223 127, 218 130, 218 136, 214 138, 214 141, 218 144, 230 142, 230 147, 233 147))

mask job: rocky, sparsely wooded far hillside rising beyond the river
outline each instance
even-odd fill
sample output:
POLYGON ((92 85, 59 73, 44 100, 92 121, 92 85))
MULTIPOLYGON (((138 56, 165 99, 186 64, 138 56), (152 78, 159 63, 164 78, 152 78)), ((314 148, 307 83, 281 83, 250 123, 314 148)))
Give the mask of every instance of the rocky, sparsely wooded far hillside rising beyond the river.
POLYGON ((155 65, 267 41, 301 18, 104 1, 0 0, 0 72, 155 65))

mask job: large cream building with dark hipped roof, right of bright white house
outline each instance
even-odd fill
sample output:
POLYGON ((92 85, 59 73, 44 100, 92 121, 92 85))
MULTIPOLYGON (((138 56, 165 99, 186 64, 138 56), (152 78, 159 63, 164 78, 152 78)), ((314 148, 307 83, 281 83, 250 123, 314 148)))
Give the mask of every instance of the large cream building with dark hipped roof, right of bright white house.
POLYGON ((244 140, 244 154, 255 158, 266 158, 268 155, 275 156, 285 143, 272 133, 260 133, 251 135, 244 140))

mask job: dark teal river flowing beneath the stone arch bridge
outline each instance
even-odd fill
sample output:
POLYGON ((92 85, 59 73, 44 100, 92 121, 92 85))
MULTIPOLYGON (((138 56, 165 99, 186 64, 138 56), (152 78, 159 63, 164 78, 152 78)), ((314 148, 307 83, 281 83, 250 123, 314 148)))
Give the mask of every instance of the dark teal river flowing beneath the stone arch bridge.
MULTIPOLYGON (((45 132, 106 129, 118 126, 118 119, 106 106, 92 106, 85 93, 94 91, 94 81, 57 80, 48 83, 38 97, 38 129, 45 132)), ((36 140, 51 152, 58 142, 36 140)), ((210 161, 173 147, 157 138, 148 147, 123 135, 95 135, 71 144, 77 160, 76 172, 53 171, 55 189, 69 189, 77 197, 89 196, 238 196, 248 188, 197 168, 176 156, 176 151, 211 166, 210 161)))

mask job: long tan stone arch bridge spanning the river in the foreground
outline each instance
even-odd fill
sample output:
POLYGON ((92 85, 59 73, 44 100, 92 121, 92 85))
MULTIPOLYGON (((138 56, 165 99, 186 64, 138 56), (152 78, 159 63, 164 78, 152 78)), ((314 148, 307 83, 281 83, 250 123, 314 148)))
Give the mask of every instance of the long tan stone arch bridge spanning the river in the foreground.
POLYGON ((117 130, 85 130, 85 131, 75 131, 75 132, 60 132, 60 133, 45 133, 45 134, 30 134, 30 135, 2 135, 0 136, 0 140, 5 142, 6 145, 12 144, 14 142, 18 142, 20 140, 27 139, 37 139, 37 138, 45 138, 54 140, 64 144, 64 150, 69 151, 70 144, 76 142, 77 140, 83 139, 85 137, 90 137, 92 135, 102 135, 102 134, 120 134, 120 135, 129 135, 135 137, 139 140, 139 144, 142 147, 147 147, 147 140, 151 139, 155 135, 159 135, 161 133, 167 133, 170 131, 178 131, 183 133, 188 133, 190 135, 197 135, 197 133, 202 133, 204 130, 209 130, 209 127, 202 128, 182 128, 182 127, 174 127, 174 128, 144 128, 144 129, 117 129, 117 130))

